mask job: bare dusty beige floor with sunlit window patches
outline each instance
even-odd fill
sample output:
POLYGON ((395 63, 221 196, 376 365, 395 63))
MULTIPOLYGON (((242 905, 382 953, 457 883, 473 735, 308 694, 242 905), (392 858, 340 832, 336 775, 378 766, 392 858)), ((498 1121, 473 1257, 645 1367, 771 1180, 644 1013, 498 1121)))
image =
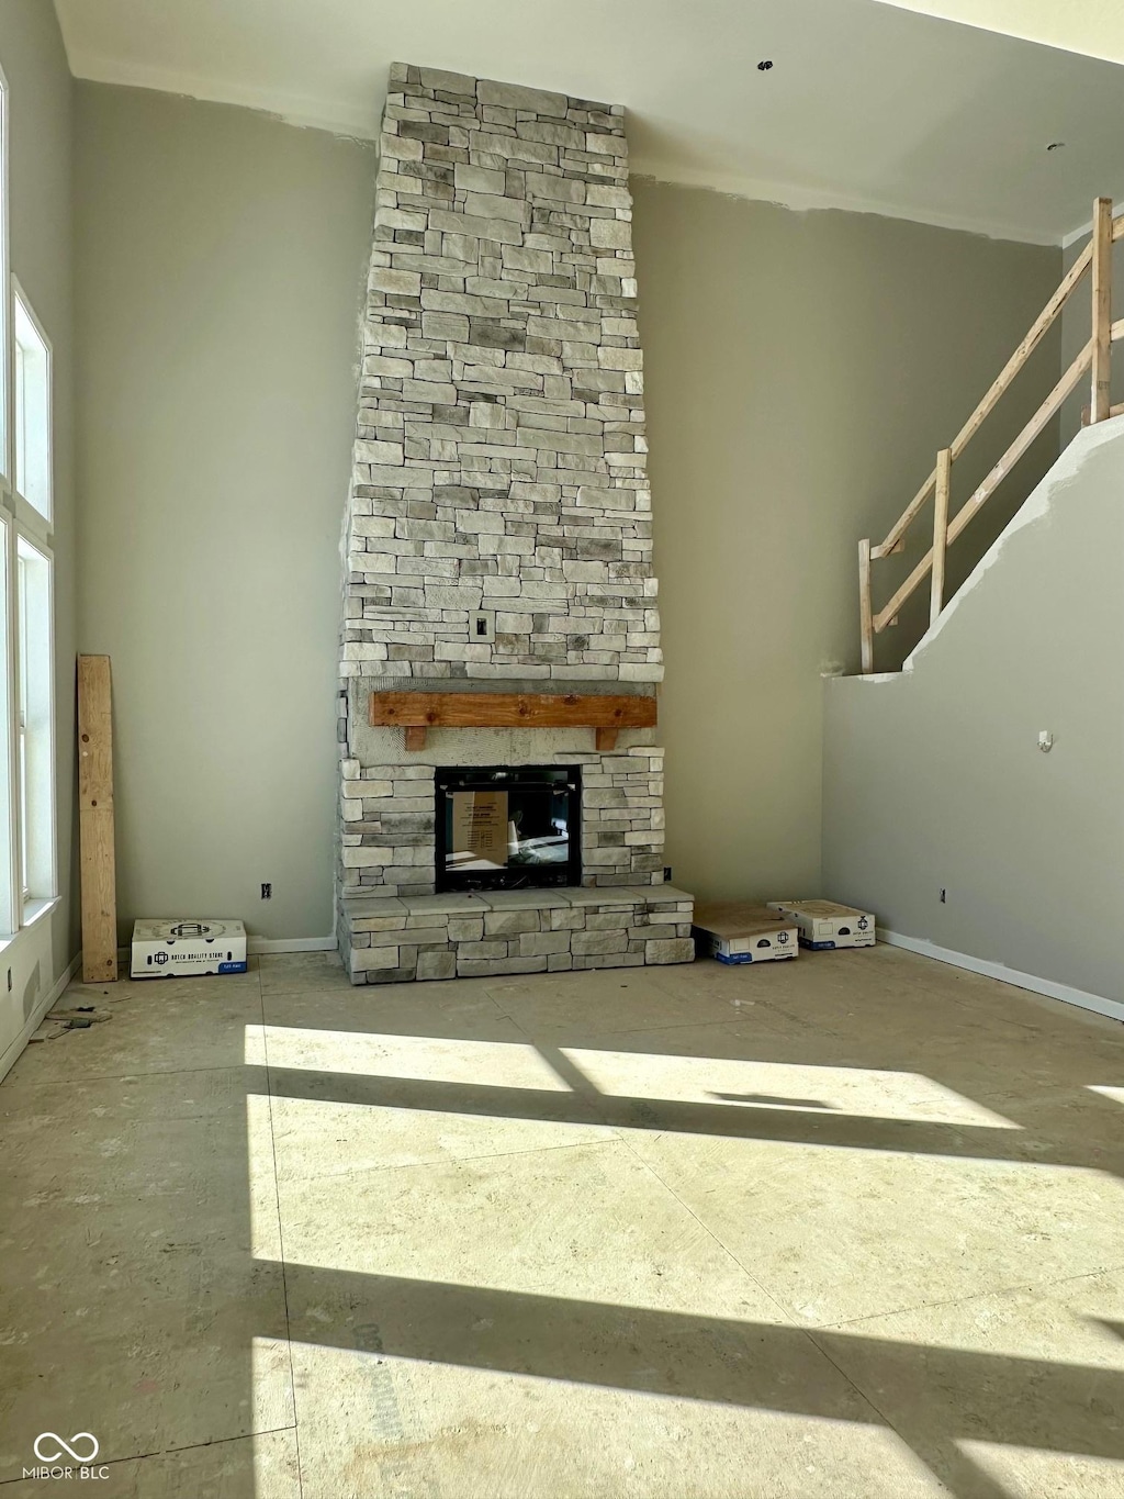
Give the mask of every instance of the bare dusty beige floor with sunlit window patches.
POLYGON ((1124 1495, 1120 1025, 889 947, 63 1003, 3 1499, 46 1432, 106 1499, 1124 1495))

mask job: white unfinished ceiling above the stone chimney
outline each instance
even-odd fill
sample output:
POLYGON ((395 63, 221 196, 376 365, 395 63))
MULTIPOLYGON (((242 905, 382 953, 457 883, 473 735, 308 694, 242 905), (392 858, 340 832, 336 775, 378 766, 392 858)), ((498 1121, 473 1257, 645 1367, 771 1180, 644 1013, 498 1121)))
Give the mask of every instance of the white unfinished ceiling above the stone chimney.
POLYGON ((635 172, 793 207, 1057 243, 1124 196, 1123 67, 877 0, 55 4, 81 78, 346 133, 405 60, 620 102, 635 172))

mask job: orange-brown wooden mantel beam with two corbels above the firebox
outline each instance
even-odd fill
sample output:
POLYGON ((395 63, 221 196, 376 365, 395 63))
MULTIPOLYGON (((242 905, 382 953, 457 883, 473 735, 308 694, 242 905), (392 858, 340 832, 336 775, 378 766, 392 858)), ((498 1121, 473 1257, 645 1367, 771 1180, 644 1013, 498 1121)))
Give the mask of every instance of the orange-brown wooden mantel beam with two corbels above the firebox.
POLYGON ((653 729, 655 697, 566 693, 372 693, 372 729, 402 727, 424 750, 429 729, 595 729, 611 754, 620 729, 653 729))

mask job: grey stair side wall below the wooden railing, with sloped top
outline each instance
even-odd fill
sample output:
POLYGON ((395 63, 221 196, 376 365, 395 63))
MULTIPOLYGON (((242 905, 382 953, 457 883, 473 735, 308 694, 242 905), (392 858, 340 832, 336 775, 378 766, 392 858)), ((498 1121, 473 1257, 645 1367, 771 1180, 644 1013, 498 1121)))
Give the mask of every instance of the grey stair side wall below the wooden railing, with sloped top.
POLYGON ((832 895, 1118 1003, 1121 493, 1117 418, 1061 456, 913 672, 827 685, 824 727, 832 895))

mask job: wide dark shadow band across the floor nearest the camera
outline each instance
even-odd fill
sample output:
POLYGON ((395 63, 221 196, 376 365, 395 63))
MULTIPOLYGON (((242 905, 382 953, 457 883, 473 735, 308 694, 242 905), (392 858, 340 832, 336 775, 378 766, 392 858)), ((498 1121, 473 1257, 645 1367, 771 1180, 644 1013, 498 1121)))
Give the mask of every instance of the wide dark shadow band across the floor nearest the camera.
MULTIPOLYGON (((1124 1373, 1109 1369, 315 1265, 288 1264, 286 1285, 297 1342, 892 1427, 958 1499, 1006 1496, 964 1441, 1124 1462, 1124 1373)), ((408 1426, 402 1441, 418 1441, 408 1426)))

